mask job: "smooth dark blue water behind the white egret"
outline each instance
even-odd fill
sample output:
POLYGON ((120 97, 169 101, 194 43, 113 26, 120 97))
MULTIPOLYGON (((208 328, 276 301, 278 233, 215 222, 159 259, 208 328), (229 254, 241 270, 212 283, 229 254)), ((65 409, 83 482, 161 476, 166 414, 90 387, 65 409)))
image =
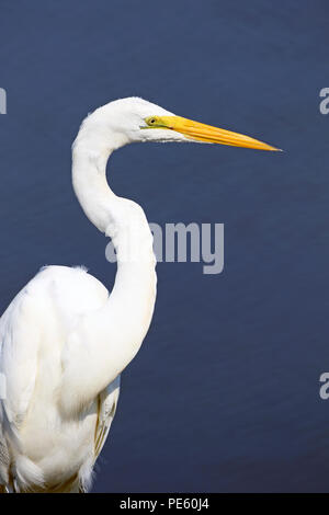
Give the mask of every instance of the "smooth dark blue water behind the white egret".
POLYGON ((114 191, 151 221, 224 222, 225 272, 159 264, 94 491, 328 491, 326 0, 1 0, 0 308, 44 264, 111 287, 70 183, 87 112, 141 95, 284 153, 132 146, 114 191))

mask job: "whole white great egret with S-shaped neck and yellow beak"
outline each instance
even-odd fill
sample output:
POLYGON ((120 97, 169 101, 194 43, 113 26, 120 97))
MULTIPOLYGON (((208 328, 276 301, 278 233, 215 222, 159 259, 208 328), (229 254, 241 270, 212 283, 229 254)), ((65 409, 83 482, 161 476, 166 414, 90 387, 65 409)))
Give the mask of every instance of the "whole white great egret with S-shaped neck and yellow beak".
POLYGON ((47 266, 0 320, 0 490, 86 492, 114 417, 120 374, 149 328, 156 299, 152 236, 141 207, 106 182, 110 154, 136 141, 204 141, 277 150, 175 116, 139 98, 82 123, 72 147, 76 195, 113 240, 111 295, 83 268, 47 266))

